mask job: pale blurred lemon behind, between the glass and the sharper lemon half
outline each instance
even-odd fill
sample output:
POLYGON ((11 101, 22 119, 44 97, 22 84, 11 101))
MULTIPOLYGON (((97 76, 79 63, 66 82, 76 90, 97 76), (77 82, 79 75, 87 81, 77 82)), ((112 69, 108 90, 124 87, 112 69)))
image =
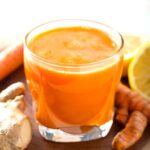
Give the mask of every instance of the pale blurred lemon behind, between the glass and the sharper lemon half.
POLYGON ((128 66, 133 59, 133 57, 137 54, 138 47, 143 43, 144 38, 137 35, 130 34, 122 34, 124 39, 124 67, 122 76, 127 76, 128 66))

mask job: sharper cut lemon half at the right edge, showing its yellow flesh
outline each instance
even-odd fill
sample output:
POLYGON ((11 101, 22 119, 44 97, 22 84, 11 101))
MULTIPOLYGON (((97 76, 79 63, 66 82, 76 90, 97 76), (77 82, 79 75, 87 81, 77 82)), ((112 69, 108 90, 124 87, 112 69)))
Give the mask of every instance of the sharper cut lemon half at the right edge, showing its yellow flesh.
POLYGON ((131 88, 150 99, 150 42, 139 48, 129 65, 128 77, 131 88))

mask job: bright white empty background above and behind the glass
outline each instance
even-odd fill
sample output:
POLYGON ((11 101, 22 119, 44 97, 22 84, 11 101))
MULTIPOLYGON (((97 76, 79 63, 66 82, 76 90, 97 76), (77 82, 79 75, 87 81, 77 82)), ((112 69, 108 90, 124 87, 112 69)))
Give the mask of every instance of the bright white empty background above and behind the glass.
POLYGON ((0 38, 56 19, 90 19, 120 32, 150 34, 150 0, 0 0, 0 38))

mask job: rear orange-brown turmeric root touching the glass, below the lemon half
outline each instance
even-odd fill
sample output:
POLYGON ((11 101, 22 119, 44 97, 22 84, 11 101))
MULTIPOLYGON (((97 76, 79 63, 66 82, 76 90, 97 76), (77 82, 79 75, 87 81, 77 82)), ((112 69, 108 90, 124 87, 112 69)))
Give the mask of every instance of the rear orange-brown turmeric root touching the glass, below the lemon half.
POLYGON ((132 112, 135 110, 143 113, 150 122, 150 101, 146 100, 137 92, 132 91, 127 86, 120 83, 116 91, 115 100, 118 110, 122 110, 118 111, 116 115, 116 118, 119 122, 125 124, 129 117, 129 113, 127 112, 132 112), (120 118, 122 118, 121 116, 123 114, 124 120, 122 119, 121 121, 120 118))

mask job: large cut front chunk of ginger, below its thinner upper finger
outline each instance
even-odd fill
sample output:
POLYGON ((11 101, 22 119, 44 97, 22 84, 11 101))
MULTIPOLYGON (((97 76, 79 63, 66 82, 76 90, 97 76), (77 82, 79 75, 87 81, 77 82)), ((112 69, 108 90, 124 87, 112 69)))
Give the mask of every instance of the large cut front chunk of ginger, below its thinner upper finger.
POLYGON ((16 101, 0 103, 0 149, 25 149, 31 141, 31 124, 16 101))

